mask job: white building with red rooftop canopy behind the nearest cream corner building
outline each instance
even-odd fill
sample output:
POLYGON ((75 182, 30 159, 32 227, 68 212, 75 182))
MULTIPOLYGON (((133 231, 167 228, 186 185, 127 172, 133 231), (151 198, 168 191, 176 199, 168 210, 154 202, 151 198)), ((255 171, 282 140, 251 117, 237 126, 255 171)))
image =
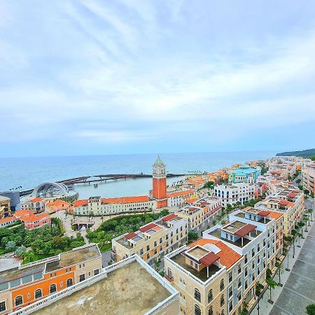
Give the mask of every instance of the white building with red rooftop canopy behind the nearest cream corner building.
POLYGON ((265 211, 235 211, 229 223, 204 231, 204 239, 221 241, 241 255, 227 274, 224 314, 240 314, 242 303, 255 301, 255 284, 266 279, 266 270, 276 267, 276 221, 265 211))

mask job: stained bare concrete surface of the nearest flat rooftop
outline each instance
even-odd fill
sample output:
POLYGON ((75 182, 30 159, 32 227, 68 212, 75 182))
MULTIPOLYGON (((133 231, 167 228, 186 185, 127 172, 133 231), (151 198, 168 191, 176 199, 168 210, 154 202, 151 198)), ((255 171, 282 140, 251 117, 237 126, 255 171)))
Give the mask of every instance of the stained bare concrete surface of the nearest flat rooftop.
POLYGON ((141 315, 170 295, 172 293, 134 261, 34 314, 141 315))

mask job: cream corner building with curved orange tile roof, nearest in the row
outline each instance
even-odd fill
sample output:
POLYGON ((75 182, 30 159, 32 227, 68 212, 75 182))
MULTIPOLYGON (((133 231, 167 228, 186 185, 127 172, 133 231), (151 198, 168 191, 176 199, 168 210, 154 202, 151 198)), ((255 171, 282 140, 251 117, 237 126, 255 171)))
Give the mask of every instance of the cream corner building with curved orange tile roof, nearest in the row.
POLYGON ((222 241, 199 239, 165 256, 165 278, 179 291, 180 314, 228 314, 228 272, 241 255, 222 241))

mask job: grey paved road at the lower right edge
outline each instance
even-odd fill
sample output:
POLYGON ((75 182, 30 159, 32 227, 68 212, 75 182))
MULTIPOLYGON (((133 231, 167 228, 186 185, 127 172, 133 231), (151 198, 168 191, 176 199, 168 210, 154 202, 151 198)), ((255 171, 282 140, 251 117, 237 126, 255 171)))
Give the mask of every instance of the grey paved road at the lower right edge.
POLYGON ((315 224, 270 315, 304 315, 305 307, 312 303, 315 303, 315 224))

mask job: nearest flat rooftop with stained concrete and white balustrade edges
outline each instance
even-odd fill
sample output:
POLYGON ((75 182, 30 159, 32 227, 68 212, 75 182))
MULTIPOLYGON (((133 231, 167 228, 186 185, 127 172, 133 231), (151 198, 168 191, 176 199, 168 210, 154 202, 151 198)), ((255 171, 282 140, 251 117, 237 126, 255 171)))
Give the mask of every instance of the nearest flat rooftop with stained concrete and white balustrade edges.
POLYGON ((179 314, 179 292, 138 255, 36 300, 13 315, 179 314))

